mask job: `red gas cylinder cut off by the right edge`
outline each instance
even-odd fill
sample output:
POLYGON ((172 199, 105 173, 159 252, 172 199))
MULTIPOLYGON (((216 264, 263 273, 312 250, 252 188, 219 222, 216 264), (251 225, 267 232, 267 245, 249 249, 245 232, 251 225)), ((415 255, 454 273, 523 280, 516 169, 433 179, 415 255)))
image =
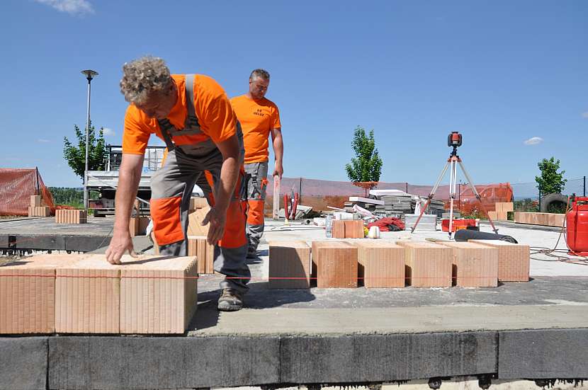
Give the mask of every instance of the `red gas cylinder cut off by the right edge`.
POLYGON ((588 256, 588 197, 572 198, 572 210, 565 220, 570 255, 588 256))

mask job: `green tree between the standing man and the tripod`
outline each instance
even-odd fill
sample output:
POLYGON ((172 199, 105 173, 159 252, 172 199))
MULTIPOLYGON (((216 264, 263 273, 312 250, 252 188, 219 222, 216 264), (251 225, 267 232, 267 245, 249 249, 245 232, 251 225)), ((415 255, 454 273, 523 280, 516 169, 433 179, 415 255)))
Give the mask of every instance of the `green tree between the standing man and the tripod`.
POLYGON ((378 154, 378 148, 375 147, 373 130, 366 134, 363 127, 356 127, 351 148, 354 149, 356 156, 351 159, 351 164, 345 164, 349 180, 379 181, 382 173, 382 159, 378 154))

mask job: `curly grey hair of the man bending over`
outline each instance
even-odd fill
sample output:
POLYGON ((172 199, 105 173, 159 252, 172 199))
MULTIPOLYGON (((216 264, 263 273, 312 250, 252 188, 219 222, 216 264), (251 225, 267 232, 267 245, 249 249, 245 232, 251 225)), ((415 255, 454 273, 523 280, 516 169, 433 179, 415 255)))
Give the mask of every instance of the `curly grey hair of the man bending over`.
POLYGON ((125 96, 125 101, 142 104, 149 93, 166 91, 171 82, 165 61, 159 57, 146 56, 123 65, 120 92, 125 96))

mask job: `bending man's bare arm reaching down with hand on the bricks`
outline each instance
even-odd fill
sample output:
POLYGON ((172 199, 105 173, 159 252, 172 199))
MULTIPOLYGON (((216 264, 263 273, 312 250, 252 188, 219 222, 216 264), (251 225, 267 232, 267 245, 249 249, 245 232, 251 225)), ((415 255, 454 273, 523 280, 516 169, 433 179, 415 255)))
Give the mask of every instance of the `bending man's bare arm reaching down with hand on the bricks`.
POLYGON ((144 155, 125 154, 118 171, 118 188, 115 195, 115 219, 111 244, 106 250, 106 260, 111 264, 120 264, 120 258, 126 251, 135 256, 129 232, 129 219, 132 204, 137 196, 139 180, 143 168, 144 155))

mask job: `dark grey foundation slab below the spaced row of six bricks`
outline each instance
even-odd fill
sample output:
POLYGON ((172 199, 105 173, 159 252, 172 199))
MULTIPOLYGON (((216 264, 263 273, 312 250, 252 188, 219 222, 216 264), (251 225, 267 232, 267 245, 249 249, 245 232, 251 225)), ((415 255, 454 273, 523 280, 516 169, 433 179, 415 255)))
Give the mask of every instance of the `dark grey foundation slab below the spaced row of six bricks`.
POLYGON ((282 383, 392 382, 492 373, 494 332, 285 337, 282 383))

